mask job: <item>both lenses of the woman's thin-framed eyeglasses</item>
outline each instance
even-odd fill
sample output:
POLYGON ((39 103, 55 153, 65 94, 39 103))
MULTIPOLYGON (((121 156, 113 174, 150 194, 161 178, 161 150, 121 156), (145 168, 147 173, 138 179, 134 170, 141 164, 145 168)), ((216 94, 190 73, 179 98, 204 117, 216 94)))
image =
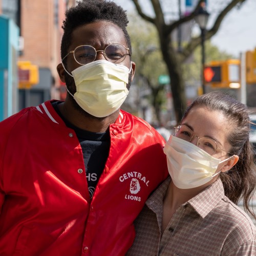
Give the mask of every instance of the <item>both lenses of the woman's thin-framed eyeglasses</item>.
MULTIPOLYGON (((175 136, 190 142, 194 137, 194 133, 186 125, 179 125, 175 128, 175 136)), ((197 146, 209 155, 213 155, 217 150, 215 140, 207 137, 199 138, 197 146)))

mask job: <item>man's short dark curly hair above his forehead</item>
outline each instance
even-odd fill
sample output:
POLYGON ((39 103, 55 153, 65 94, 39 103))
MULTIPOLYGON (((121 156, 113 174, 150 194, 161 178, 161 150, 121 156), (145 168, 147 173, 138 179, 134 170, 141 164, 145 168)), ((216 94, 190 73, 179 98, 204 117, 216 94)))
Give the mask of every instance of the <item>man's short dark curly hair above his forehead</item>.
POLYGON ((128 19, 126 11, 114 2, 102 0, 86 0, 78 2, 76 6, 66 11, 66 20, 63 21, 64 31, 61 40, 61 59, 68 53, 72 41, 72 32, 85 24, 96 20, 107 20, 122 29, 127 46, 132 53, 131 39, 126 30, 128 19))

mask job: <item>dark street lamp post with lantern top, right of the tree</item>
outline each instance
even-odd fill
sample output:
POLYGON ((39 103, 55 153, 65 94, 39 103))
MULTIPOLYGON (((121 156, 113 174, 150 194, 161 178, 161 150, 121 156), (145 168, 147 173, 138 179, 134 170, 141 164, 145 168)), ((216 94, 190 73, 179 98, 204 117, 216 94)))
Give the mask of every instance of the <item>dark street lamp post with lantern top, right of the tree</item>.
POLYGON ((204 45, 204 42, 205 42, 206 25, 208 22, 209 15, 210 14, 205 9, 205 3, 202 2, 201 6, 198 10, 198 14, 195 17, 195 20, 201 29, 201 48, 202 48, 202 71, 201 71, 202 74, 201 75, 202 75, 203 94, 205 93, 205 81, 204 81, 205 45, 204 45))

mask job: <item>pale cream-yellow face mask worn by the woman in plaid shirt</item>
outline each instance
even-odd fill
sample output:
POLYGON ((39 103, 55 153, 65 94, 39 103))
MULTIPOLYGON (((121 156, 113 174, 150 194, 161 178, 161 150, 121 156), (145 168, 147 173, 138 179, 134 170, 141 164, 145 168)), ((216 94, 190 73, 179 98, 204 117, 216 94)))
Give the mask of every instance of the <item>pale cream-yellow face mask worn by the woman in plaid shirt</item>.
POLYGON ((167 157, 169 175, 175 186, 182 189, 206 184, 221 172, 215 173, 218 165, 233 157, 221 161, 175 136, 170 136, 163 151, 167 157))

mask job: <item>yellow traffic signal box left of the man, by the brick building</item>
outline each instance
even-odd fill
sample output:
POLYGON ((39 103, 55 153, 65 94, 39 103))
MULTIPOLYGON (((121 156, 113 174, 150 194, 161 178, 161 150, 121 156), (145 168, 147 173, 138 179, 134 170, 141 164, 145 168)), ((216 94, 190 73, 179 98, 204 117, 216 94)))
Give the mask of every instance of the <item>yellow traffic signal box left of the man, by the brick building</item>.
POLYGON ((38 66, 30 61, 18 61, 18 88, 30 89, 39 82, 38 66))

